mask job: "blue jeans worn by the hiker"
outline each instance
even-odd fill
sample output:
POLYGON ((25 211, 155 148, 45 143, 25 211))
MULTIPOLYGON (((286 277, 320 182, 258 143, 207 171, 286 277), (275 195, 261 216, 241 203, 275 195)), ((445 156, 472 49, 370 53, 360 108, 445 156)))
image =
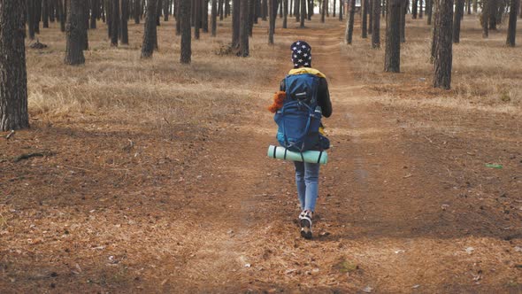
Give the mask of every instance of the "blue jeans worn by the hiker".
POLYGON ((319 164, 294 161, 297 195, 302 210, 314 212, 319 194, 319 164))

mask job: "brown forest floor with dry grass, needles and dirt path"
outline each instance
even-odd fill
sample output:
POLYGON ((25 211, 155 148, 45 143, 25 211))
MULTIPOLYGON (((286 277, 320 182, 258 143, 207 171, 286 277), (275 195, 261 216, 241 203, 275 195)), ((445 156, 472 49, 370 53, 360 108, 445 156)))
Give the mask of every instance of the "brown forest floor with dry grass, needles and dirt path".
POLYGON ((173 21, 150 60, 142 26, 119 48, 101 26, 80 67, 43 29, 49 48, 27 53, 31 128, 0 138, 0 292, 522 292, 521 47, 502 29, 483 41, 466 17, 442 91, 422 19, 403 74, 383 74, 369 40, 344 45, 335 19, 290 23, 275 46, 263 23, 236 58, 219 51, 226 22, 191 66, 173 21), (311 241, 293 165, 265 156, 298 39, 334 104, 311 241))

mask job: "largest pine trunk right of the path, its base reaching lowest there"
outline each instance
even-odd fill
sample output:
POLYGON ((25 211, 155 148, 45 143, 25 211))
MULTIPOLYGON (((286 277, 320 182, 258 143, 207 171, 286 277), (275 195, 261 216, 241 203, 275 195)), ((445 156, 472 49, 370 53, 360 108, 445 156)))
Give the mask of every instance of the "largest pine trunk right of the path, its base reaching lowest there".
POLYGON ((453 0, 441 0, 435 44, 434 88, 451 89, 453 0))

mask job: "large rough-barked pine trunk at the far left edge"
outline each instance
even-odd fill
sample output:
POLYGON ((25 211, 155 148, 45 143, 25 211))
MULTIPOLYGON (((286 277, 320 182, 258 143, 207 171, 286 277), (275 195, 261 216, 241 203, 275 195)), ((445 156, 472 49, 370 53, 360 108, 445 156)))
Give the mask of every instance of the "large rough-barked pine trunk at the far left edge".
POLYGON ((25 1, 0 0, 0 131, 29 128, 25 1))

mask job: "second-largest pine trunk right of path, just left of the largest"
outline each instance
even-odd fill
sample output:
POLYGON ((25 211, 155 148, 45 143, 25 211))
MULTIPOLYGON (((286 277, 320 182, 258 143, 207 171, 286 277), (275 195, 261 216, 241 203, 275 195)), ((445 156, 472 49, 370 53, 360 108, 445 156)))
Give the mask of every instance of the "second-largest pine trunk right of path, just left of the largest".
POLYGON ((401 14, 401 0, 389 0, 384 57, 384 71, 388 73, 401 72, 401 14))

